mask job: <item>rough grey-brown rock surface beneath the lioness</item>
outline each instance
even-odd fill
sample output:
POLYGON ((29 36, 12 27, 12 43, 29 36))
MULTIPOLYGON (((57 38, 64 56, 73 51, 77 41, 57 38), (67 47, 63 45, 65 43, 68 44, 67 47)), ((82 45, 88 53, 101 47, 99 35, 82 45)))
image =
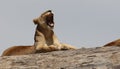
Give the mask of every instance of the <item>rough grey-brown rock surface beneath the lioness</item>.
POLYGON ((0 69, 120 69, 120 47, 4 56, 0 69))

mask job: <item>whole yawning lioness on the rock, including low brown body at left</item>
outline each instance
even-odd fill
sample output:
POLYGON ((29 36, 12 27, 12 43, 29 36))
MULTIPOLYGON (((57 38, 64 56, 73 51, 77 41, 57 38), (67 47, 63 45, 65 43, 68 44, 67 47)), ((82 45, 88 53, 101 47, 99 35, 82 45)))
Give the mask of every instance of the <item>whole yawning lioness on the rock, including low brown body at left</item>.
POLYGON ((55 36, 53 31, 53 13, 51 10, 44 12, 40 17, 34 19, 33 22, 37 25, 34 36, 34 45, 10 47, 3 52, 2 56, 76 49, 71 45, 60 43, 55 36))

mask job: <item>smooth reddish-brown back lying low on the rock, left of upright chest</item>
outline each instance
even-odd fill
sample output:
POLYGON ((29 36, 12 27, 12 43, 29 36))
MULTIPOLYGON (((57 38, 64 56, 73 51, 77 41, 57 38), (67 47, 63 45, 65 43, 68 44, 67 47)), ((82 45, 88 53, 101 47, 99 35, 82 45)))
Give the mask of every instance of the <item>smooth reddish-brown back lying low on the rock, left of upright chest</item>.
POLYGON ((35 52, 34 46, 13 46, 6 49, 2 56, 26 55, 35 52))

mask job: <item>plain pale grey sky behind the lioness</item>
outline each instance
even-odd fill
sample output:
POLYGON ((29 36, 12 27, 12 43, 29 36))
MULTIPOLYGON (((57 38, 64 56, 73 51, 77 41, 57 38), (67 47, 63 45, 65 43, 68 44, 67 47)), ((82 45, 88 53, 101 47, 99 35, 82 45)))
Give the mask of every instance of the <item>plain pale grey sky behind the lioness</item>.
POLYGON ((51 9, 55 33, 63 43, 102 46, 120 38, 120 0, 0 0, 0 53, 15 45, 32 45, 32 20, 51 9))

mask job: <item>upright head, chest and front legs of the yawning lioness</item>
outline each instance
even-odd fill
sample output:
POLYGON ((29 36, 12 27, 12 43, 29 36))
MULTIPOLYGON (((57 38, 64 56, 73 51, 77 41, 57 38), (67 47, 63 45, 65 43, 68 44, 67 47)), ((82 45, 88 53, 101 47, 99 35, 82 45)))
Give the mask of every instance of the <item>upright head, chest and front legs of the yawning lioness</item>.
POLYGON ((55 36, 53 31, 54 14, 51 10, 44 12, 41 16, 34 19, 33 22, 37 25, 34 37, 36 52, 43 52, 43 50, 48 52, 53 50, 75 49, 71 45, 60 43, 55 36))

